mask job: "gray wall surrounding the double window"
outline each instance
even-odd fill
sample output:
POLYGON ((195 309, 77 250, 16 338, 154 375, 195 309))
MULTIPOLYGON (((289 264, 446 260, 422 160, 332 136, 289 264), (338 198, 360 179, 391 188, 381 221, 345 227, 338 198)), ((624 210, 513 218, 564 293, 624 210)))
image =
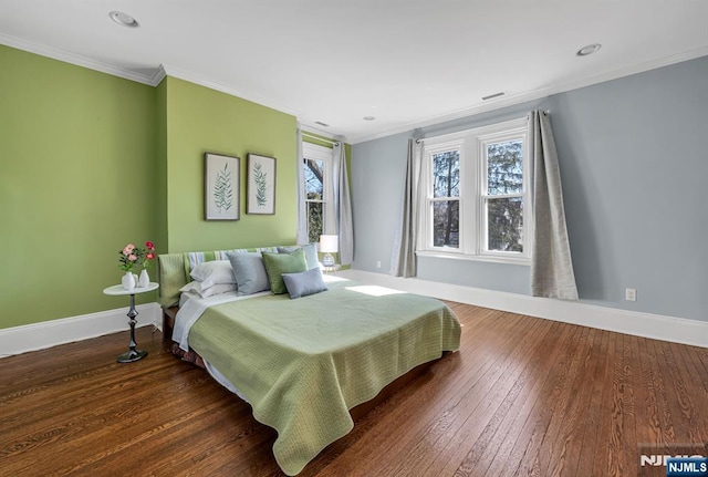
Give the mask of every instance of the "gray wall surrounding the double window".
MULTIPOLYGON (((421 131, 430 137, 550 110, 581 301, 708 321, 706 79, 708 56, 421 131), (637 289, 636 302, 624 300, 625 288, 637 289)), ((412 135, 352 147, 355 269, 388 272, 412 135)), ((418 278, 523 294, 529 271, 418 259, 418 278)))

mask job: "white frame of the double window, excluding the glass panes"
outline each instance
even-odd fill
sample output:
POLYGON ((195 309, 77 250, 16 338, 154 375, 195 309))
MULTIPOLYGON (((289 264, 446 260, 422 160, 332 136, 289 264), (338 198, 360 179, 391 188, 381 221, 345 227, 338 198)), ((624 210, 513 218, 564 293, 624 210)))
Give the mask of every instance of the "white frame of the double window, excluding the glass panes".
MULTIPOLYGON (((530 265, 531 237, 533 234, 533 207, 531 198, 531 157, 529 155, 528 121, 525 117, 476 127, 424 139, 419 187, 418 237, 421 238, 416 255, 464 260, 492 261, 530 265), (522 193, 489 195, 487 145, 522 141, 522 193), (459 151, 459 241, 458 248, 434 245, 433 157, 448 151, 459 151), (489 224, 487 203, 489 198, 521 197, 523 207, 522 251, 488 250, 489 224)), ((447 198, 446 198, 447 199, 447 198)))

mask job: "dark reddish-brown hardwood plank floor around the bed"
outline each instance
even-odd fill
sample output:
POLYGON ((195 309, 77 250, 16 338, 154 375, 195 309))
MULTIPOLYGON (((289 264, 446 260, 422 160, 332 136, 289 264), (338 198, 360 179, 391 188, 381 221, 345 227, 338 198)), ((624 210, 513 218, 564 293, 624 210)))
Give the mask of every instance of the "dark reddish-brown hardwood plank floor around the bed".
MULTIPOLYGON (((664 476, 708 445, 708 350, 449 303, 436 362, 301 476, 664 476), (680 446, 684 447, 680 447, 680 446)), ((159 332, 0 360, 1 476, 280 476, 275 433, 159 332)))

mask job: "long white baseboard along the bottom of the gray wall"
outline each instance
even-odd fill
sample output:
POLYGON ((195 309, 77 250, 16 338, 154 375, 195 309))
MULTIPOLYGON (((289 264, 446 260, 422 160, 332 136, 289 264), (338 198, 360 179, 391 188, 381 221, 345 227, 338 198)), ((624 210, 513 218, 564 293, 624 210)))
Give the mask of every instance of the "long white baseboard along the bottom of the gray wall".
POLYGON ((353 280, 426 294, 441 300, 457 301, 654 340, 708 348, 708 322, 705 321, 597 307, 576 301, 528 297, 417 278, 392 277, 362 270, 344 270, 339 274, 353 280))

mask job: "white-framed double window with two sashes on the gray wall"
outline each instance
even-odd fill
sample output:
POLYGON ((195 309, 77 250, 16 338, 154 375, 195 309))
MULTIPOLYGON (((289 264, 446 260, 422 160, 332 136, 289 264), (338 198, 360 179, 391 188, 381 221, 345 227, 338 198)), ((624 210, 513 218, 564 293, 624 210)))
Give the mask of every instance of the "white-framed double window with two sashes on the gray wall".
POLYGON ((528 263, 525 118, 425 139, 419 255, 528 263))

